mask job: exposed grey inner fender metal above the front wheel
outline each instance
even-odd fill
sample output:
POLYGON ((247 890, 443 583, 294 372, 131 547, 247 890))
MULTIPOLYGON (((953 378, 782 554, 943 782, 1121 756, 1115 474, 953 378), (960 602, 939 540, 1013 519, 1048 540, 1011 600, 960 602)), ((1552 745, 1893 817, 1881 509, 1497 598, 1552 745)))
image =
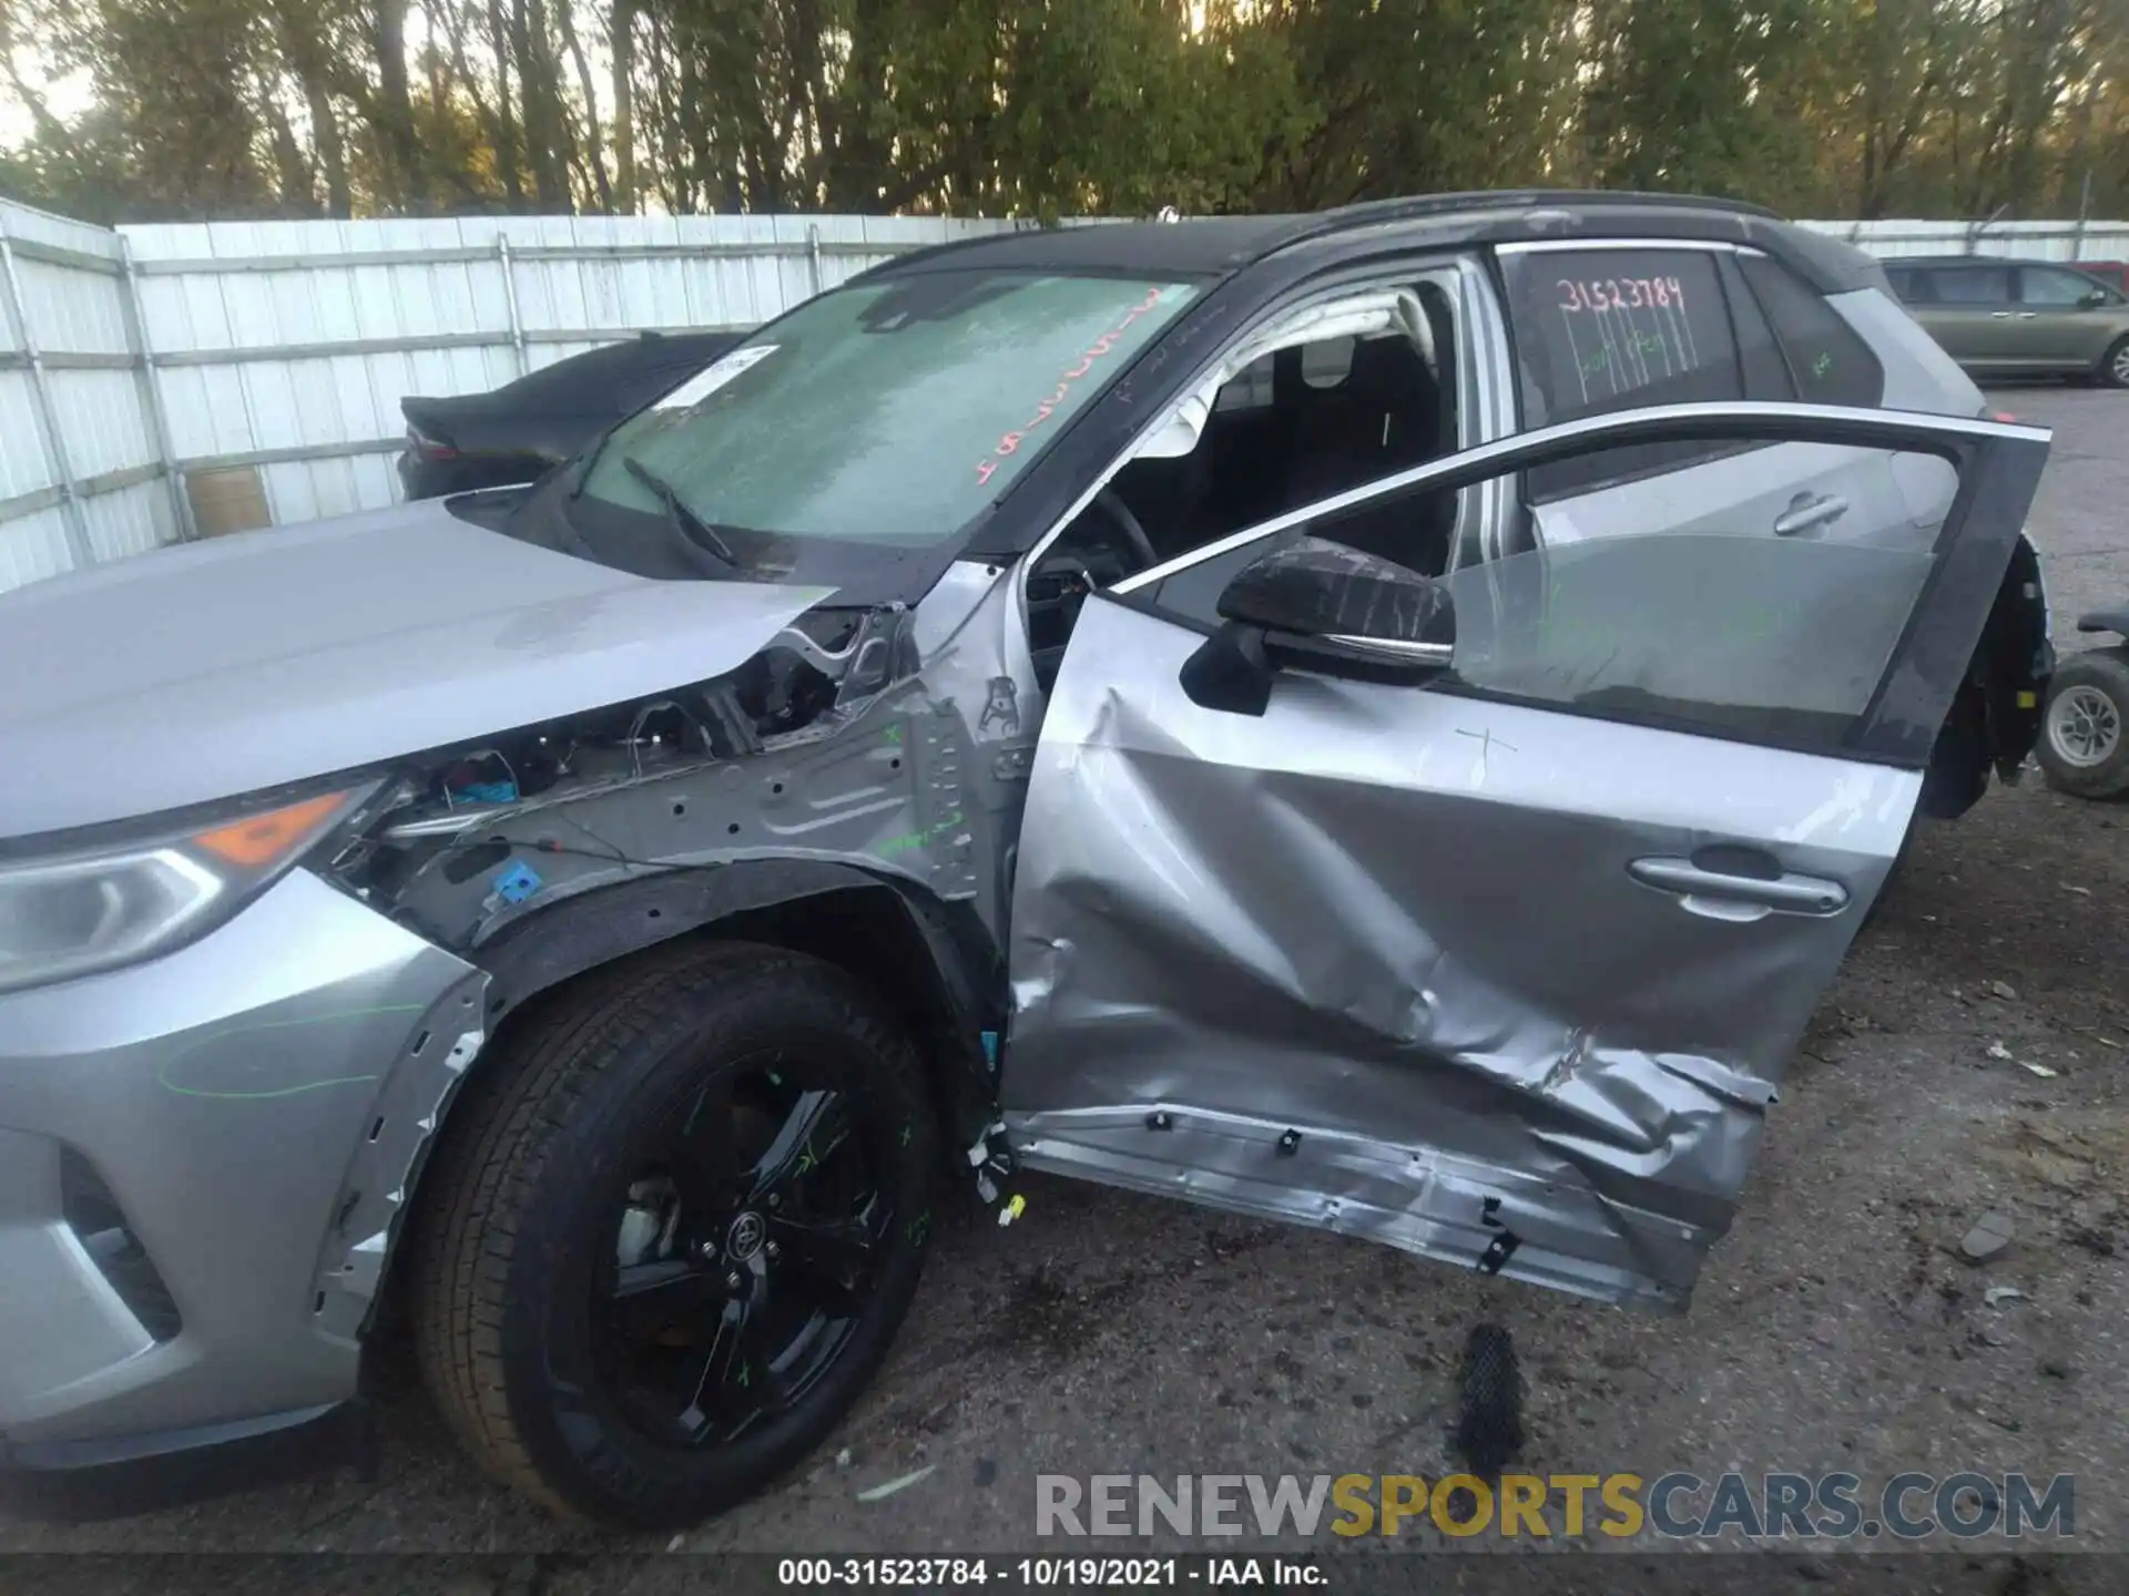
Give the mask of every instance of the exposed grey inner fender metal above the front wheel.
POLYGON ((792 679, 813 681, 807 706, 777 711, 788 732, 764 700, 707 683, 611 724, 519 738, 530 751, 502 755, 502 781, 485 749, 445 755, 441 794, 396 813, 351 879, 439 945, 479 949, 617 881, 826 860, 973 902, 1003 941, 1009 841, 1041 724, 1033 670, 1007 662, 1009 604, 1003 568, 962 562, 913 615, 881 611, 839 647, 786 630, 764 653, 781 649, 792 679), (473 787, 451 785, 456 768, 513 798, 458 802, 473 787))

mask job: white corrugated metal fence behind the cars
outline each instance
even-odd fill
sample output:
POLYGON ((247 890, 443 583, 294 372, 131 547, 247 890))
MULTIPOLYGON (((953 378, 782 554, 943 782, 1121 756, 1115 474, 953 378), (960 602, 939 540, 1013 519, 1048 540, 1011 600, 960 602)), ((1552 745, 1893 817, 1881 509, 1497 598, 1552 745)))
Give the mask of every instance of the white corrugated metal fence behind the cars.
MULTIPOLYGON (((187 481, 270 521, 392 502, 407 394, 494 387, 645 328, 752 328, 1007 221, 477 217, 117 232, 0 202, 0 589, 196 534, 187 481)), ((1808 223, 1886 255, 2129 260, 2129 223, 1808 223)))

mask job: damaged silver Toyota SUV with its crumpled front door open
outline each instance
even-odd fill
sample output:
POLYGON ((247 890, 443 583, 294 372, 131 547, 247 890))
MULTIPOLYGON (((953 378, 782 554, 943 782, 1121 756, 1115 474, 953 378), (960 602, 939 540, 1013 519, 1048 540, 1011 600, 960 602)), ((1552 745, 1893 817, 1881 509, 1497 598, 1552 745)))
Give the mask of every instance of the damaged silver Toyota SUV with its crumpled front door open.
POLYGON ((941 1164, 1684 1309, 1918 813, 2033 745, 2048 434, 1767 213, 1026 232, 537 487, 0 598, 0 1436, 360 1415, 686 1524, 941 1164))

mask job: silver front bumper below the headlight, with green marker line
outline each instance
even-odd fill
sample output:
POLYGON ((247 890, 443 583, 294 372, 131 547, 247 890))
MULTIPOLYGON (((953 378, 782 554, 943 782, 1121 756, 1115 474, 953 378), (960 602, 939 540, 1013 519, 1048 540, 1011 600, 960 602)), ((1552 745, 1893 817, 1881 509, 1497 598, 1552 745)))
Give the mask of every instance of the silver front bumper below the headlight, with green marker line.
POLYGON ((102 1466, 349 1400, 483 1000, 304 870, 166 958, 0 996, 0 1460, 102 1466))

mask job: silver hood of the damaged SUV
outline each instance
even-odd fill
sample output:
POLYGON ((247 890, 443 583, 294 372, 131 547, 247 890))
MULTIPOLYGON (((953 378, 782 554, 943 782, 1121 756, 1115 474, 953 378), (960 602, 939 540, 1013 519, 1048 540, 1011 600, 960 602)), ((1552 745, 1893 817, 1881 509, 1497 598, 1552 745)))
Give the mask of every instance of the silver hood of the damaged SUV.
POLYGON ((632 577, 441 502, 53 577, 0 594, 0 838, 683 687, 832 592, 632 577))

